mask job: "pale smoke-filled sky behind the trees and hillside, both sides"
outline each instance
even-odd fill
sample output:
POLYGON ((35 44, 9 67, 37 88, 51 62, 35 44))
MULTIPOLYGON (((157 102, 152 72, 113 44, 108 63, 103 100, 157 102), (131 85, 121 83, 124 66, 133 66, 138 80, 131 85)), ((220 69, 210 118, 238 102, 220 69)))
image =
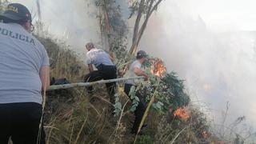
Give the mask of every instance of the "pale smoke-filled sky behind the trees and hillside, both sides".
MULTIPOLYGON (((37 9, 32 0, 13 2, 37 9)), ((84 55, 86 42, 99 41, 98 22, 88 1, 40 2, 50 34, 68 42, 78 54, 84 55)), ((150 19, 140 48, 164 59, 169 71, 185 79, 193 101, 205 104, 214 119, 222 119, 229 102, 229 122, 245 115, 254 126, 255 5, 254 0, 166 0, 150 19)))

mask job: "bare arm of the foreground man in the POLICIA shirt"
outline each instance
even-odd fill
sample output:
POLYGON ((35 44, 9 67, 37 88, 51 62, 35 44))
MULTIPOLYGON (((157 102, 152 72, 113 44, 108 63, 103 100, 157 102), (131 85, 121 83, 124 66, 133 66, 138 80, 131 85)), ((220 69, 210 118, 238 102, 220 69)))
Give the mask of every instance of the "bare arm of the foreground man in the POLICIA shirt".
POLYGON ((50 86, 50 66, 42 66, 39 75, 42 82, 42 90, 47 90, 50 86))

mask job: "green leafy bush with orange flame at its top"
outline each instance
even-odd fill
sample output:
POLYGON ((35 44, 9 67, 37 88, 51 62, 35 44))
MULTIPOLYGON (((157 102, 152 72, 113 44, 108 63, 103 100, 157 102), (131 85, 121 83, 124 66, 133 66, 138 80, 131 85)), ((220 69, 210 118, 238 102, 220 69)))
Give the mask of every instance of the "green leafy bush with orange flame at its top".
POLYGON ((145 69, 150 78, 149 82, 140 86, 140 89, 147 96, 147 101, 156 94, 152 105, 154 110, 166 114, 170 110, 177 110, 178 107, 189 104, 190 97, 184 91, 183 81, 178 79, 174 72, 166 74, 166 66, 162 60, 150 58, 145 69))

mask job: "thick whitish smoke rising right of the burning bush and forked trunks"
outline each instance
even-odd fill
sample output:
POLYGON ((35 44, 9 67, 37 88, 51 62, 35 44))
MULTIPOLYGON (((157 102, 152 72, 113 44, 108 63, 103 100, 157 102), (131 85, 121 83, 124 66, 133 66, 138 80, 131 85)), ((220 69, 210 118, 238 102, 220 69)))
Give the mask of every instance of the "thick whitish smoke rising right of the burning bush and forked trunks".
POLYGON ((254 31, 213 32, 200 16, 194 18, 173 1, 151 19, 140 47, 185 79, 195 103, 206 103, 216 122, 229 102, 228 122, 245 115, 253 126, 255 40, 254 31))

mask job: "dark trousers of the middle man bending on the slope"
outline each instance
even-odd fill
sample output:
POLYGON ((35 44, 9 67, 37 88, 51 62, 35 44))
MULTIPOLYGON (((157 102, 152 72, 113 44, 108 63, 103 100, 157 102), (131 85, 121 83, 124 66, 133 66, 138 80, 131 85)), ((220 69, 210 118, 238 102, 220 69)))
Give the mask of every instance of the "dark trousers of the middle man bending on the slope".
MULTIPOLYGON (((87 74, 84 78, 84 82, 95 82, 99 80, 107 80, 107 79, 114 79, 117 78, 117 68, 116 66, 101 66, 98 70, 94 70, 87 74)), ((110 102, 114 104, 114 90, 116 87, 115 82, 106 83, 106 90, 110 95, 110 102)), ((87 90, 90 92, 93 90, 93 86, 88 86, 87 90)))

